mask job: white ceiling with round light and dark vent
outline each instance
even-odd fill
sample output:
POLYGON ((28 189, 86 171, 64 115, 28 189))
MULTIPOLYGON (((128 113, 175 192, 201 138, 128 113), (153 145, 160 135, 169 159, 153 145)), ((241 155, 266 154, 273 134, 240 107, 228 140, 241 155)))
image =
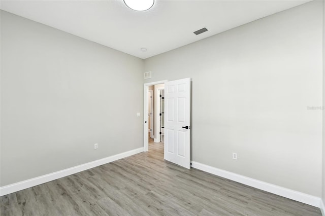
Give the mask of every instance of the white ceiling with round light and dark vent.
POLYGON ((123 0, 10 0, 1 1, 1 9, 146 59, 306 2, 155 0, 138 12, 123 0), (204 27, 208 31, 193 33, 204 27))

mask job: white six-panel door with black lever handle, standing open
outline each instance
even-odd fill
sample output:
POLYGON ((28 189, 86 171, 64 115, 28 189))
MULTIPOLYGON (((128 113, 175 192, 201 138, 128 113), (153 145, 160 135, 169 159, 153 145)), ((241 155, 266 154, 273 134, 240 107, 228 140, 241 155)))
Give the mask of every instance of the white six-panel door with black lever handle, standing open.
POLYGON ((165 83, 164 158, 190 168, 190 78, 165 83))

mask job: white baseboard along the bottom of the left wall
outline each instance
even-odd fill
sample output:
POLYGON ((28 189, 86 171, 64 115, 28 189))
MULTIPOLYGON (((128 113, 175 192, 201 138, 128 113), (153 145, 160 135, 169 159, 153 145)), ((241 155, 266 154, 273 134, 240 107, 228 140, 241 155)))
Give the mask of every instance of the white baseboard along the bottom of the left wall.
POLYGON ((24 190, 30 187, 34 187, 40 184, 44 184, 50 181, 53 181, 55 179, 61 178, 61 177, 65 177, 77 172, 81 172, 96 166, 100 166, 106 163, 110 163, 112 161, 115 160, 119 160, 131 155, 135 155, 138 154, 140 152, 143 152, 143 147, 139 148, 139 149, 134 149, 128 152, 123 152, 117 155, 113 155, 107 158, 103 158, 103 159, 99 159, 99 160, 95 160, 95 161, 91 161, 89 163, 85 163, 85 164, 81 164, 78 166, 74 166, 68 169, 63 169, 57 172, 52 172, 46 175, 42 175, 39 177, 35 177, 35 178, 31 178, 31 179, 27 179, 25 181, 22 182, 18 182, 18 183, 14 183, 11 185, 7 185, 7 186, 3 186, 0 188, 0 196, 4 196, 10 193, 14 193, 20 190, 24 190))

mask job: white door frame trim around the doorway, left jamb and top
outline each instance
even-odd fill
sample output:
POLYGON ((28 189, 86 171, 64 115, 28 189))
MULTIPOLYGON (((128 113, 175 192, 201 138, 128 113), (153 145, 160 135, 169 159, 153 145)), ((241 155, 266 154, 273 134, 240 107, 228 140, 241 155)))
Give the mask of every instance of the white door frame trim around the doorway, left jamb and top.
MULTIPOLYGON (((148 97, 149 97, 149 86, 165 84, 168 80, 162 80, 152 83, 143 84, 143 151, 148 152, 149 150, 149 136, 148 136, 148 97)), ((156 136, 157 134, 154 134, 156 136)))

